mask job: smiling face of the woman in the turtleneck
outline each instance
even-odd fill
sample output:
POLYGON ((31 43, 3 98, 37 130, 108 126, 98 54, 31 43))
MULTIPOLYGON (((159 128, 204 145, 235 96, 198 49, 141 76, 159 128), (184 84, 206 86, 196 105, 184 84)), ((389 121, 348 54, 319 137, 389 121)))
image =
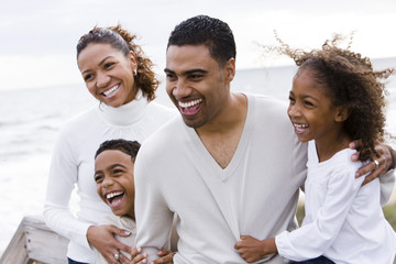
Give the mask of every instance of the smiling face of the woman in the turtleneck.
POLYGON ((77 64, 89 92, 99 101, 117 108, 135 98, 138 65, 132 52, 124 56, 110 44, 91 43, 80 52, 77 64))

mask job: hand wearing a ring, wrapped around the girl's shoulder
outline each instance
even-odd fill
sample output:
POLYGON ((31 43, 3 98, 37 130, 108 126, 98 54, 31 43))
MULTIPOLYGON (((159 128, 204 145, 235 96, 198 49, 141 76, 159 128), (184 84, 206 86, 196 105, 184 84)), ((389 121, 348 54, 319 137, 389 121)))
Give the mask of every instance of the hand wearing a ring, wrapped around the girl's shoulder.
MULTIPOLYGON (((361 141, 353 141, 350 143, 350 147, 356 150, 361 146, 361 141)), ((356 172, 356 177, 363 176, 367 173, 371 173, 367 177, 365 177, 362 185, 365 185, 373 179, 377 178, 378 176, 385 175, 391 168, 395 167, 395 151, 385 144, 376 142, 375 150, 380 154, 380 157, 376 157, 373 162, 369 163, 367 165, 361 167, 356 172)), ((353 162, 359 161, 359 152, 351 156, 353 162)))

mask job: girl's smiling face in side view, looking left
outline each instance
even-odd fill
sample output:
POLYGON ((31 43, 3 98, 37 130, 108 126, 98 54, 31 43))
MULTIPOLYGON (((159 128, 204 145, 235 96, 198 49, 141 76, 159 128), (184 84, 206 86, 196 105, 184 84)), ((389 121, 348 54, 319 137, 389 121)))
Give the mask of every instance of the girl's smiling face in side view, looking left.
POLYGON ((339 131, 339 110, 331 102, 327 87, 316 82, 309 68, 293 80, 287 113, 300 142, 333 139, 339 131))

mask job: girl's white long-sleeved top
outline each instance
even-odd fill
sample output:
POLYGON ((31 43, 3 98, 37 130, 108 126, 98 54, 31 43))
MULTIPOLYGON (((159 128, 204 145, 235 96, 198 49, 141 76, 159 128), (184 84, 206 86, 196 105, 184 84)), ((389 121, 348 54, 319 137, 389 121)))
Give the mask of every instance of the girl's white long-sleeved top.
POLYGON ((302 227, 275 238, 283 257, 304 261, 324 255, 334 263, 392 264, 396 234, 380 204, 380 180, 361 186, 354 174, 362 163, 351 162, 345 148, 319 163, 316 144, 308 146, 302 227))

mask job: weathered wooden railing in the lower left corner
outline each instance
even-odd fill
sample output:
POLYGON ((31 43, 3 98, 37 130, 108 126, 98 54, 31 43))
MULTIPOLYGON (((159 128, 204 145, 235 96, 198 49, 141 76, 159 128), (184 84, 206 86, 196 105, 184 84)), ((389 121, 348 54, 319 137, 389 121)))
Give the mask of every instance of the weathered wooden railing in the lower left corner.
POLYGON ((67 263, 68 240, 48 229, 41 216, 28 216, 21 221, 0 264, 67 263))

